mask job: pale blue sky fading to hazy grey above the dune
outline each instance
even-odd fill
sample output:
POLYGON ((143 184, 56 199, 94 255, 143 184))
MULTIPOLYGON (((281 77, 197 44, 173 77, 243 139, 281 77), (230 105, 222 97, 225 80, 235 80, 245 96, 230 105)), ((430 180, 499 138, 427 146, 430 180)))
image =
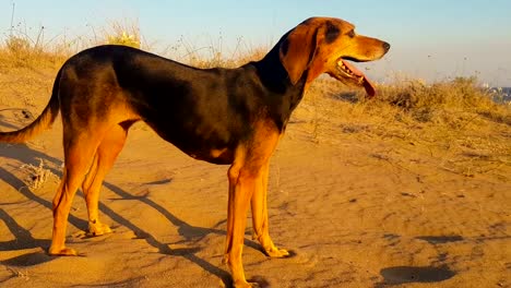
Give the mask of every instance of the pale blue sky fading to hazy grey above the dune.
POLYGON ((44 26, 48 43, 91 37, 114 22, 138 23, 153 52, 186 44, 229 56, 270 49, 310 16, 340 17, 358 34, 390 43, 382 60, 357 64, 377 82, 475 75, 482 84, 511 86, 509 0, 0 0, 0 38, 9 35, 11 21, 32 38, 44 26))

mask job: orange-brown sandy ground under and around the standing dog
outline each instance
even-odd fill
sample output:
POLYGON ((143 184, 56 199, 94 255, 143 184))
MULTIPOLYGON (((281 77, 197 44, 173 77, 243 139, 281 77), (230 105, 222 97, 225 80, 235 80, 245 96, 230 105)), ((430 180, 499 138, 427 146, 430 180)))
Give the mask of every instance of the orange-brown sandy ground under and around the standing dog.
MULTIPOLYGON (((33 81, 37 113, 52 76, 34 77, 45 79, 33 81)), ((26 100, 5 89, 12 79, 1 80, 3 93, 14 96, 3 97, 0 108, 23 107, 26 100)), ((442 156, 413 143, 343 133, 335 118, 318 133, 311 110, 310 104, 298 108, 270 171, 270 231, 295 255, 264 256, 250 238, 249 216, 248 278, 263 287, 511 287, 509 166, 465 177, 439 168, 442 156)), ((3 131, 24 123, 15 113, 0 118, 3 131)), ((229 281, 222 264, 226 166, 193 160, 136 124, 100 196, 103 221, 114 232, 86 236, 79 191, 67 241, 82 254, 52 257, 46 249, 61 163, 60 120, 26 145, 0 144, 0 286, 229 281), (39 159, 51 175, 31 189, 27 165, 39 159)))

